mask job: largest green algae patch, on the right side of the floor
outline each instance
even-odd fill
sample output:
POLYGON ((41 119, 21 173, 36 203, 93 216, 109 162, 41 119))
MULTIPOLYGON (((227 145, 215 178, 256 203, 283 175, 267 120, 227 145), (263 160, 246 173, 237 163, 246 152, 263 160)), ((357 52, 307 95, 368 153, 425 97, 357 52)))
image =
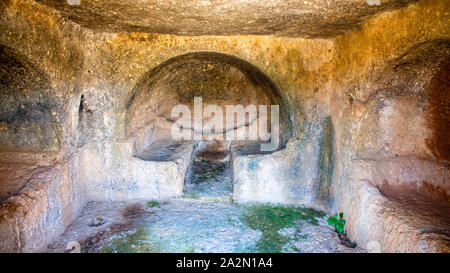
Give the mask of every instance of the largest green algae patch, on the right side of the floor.
MULTIPOLYGON (((281 252, 286 243, 298 239, 280 234, 280 230, 295 228, 297 220, 318 225, 316 218, 325 216, 324 212, 294 206, 254 205, 247 207, 246 210, 241 221, 251 229, 259 230, 262 233, 256 243, 257 251, 269 253, 281 252)), ((296 233, 296 235, 298 234, 299 232, 296 233)))

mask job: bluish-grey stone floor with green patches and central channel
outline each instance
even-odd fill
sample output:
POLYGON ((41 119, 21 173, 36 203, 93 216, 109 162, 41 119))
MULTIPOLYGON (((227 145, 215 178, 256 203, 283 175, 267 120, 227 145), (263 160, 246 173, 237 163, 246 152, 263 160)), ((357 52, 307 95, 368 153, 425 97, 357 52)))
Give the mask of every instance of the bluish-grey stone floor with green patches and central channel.
POLYGON ((364 252, 340 244, 327 215, 302 207, 236 204, 226 163, 197 160, 182 198, 91 202, 45 252, 364 252), (105 223, 95 226, 96 217, 105 223))

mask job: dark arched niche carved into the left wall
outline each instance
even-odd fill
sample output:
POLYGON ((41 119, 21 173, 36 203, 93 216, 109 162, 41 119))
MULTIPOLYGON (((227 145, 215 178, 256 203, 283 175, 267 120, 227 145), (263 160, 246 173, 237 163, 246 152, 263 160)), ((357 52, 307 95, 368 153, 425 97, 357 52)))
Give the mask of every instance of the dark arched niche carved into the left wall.
POLYGON ((47 77, 11 49, 0 47, 0 58, 2 148, 58 149, 63 103, 52 96, 47 77))

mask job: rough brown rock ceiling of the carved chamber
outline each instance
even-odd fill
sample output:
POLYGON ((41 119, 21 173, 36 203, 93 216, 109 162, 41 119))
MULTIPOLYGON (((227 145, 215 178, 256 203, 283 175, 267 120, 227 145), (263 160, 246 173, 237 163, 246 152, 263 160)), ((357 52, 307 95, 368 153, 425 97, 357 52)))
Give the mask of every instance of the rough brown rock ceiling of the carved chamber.
POLYGON ((408 0, 38 0, 82 26, 101 31, 153 32, 176 35, 275 34, 329 37, 360 25, 380 11, 402 7, 408 0), (224 16, 226 15, 226 16, 224 16))

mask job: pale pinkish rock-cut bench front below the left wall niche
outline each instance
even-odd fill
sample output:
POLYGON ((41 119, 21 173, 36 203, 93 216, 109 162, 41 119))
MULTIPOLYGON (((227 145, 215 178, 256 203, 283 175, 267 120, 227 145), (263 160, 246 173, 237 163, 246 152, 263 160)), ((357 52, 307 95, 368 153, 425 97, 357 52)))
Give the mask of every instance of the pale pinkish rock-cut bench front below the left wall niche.
POLYGON ((0 204, 1 252, 33 252, 64 232, 87 201, 71 169, 68 162, 37 173, 0 204))

